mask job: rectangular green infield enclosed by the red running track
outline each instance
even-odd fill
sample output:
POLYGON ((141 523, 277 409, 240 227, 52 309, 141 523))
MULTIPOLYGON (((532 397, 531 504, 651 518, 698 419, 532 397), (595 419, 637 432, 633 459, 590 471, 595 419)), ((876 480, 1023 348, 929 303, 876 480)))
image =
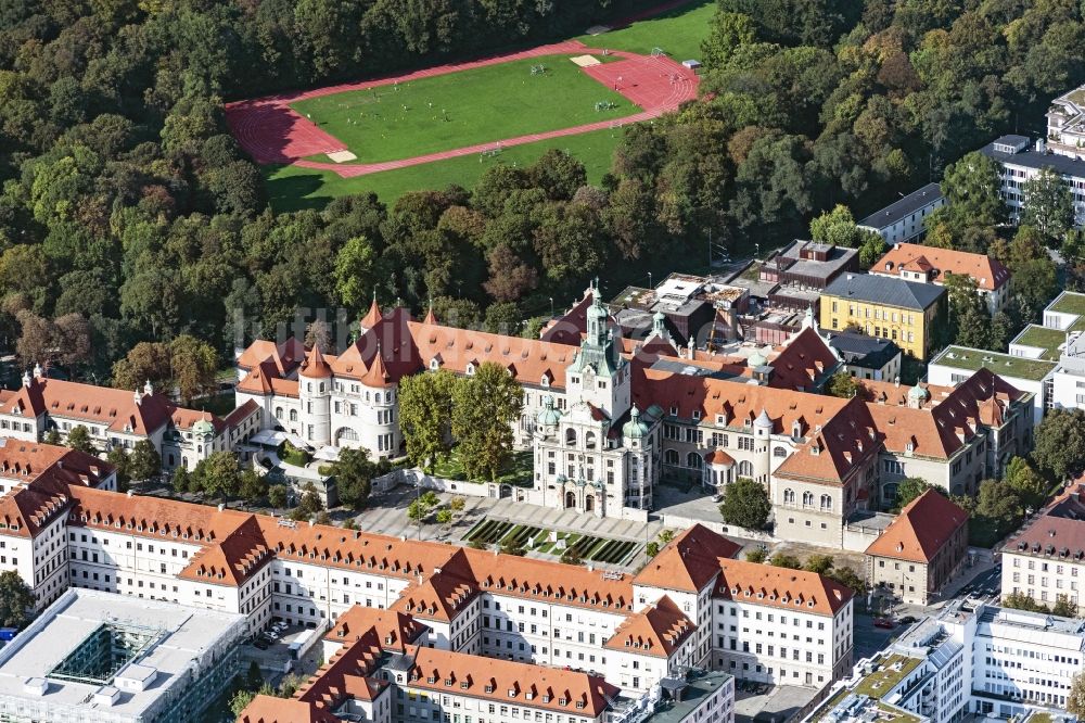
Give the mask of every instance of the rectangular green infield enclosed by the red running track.
POLYGON ((357 163, 409 158, 639 110, 566 55, 485 65, 395 87, 310 98, 291 107, 343 141, 357 163), (532 75, 539 64, 547 72, 532 75), (598 102, 613 107, 597 111, 598 102))

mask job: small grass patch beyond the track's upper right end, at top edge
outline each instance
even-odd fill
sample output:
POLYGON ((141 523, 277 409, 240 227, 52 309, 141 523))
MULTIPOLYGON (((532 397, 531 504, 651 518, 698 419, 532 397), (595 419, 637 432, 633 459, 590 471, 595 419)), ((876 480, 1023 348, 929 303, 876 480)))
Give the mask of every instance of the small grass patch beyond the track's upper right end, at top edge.
POLYGON ((709 22, 716 12, 712 0, 695 0, 669 12, 638 21, 602 35, 582 35, 577 40, 589 48, 652 52, 662 48, 673 60, 701 58, 701 41, 709 37, 709 22))

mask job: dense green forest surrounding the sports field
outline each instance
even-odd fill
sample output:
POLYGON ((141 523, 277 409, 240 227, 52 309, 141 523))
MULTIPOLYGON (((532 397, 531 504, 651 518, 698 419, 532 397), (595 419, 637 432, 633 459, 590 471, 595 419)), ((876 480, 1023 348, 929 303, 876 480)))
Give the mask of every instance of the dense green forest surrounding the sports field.
POLYGON ((238 312, 245 335, 273 333, 298 307, 354 316, 373 289, 515 322, 600 271, 616 291, 703 258, 710 231, 775 245, 834 204, 870 211, 1085 79, 1080 0, 718 5, 704 99, 629 127, 598 188, 556 151, 472 193, 273 215, 224 99, 575 34, 633 3, 0 0, 9 346, 108 375, 139 341, 225 354, 238 312))

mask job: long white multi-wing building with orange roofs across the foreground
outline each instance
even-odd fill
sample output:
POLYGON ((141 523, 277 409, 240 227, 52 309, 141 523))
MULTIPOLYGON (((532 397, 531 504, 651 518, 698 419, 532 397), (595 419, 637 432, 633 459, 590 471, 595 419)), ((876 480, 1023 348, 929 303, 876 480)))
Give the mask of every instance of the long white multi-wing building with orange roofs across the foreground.
POLYGON ((423 625, 426 649, 585 671, 629 699, 693 668, 819 688, 851 664, 850 591, 731 560, 700 527, 628 575, 43 484, 5 495, 0 524, 0 570, 42 601, 74 586, 317 631, 365 607, 423 625))

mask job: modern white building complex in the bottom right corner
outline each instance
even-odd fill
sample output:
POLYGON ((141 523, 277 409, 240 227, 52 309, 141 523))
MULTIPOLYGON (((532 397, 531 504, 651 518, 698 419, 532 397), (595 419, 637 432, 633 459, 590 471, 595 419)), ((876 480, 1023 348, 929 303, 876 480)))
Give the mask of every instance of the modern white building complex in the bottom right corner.
POLYGON ((1065 715, 1085 663, 1085 623, 962 600, 921 620, 890 648, 860 660, 806 721, 865 715, 948 723, 965 714, 1065 715))

